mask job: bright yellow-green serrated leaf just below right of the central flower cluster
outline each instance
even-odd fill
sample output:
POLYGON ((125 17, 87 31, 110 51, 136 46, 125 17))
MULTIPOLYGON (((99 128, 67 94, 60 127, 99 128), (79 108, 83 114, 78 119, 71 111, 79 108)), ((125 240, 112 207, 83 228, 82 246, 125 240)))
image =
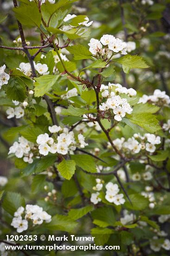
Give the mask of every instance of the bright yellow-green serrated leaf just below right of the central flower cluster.
POLYGON ((150 133, 154 133, 158 130, 161 130, 159 126, 159 121, 156 119, 155 115, 150 113, 143 114, 131 114, 126 115, 126 117, 134 124, 137 124, 144 128, 146 131, 150 133))

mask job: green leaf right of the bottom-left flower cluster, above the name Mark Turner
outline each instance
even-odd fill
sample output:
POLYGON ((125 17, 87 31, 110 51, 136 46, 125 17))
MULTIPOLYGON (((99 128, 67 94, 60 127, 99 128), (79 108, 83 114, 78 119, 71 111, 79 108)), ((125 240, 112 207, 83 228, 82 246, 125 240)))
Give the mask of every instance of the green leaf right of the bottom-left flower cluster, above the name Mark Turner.
POLYGON ((66 232, 73 232, 76 229, 77 222, 69 218, 69 216, 55 215, 52 217, 50 223, 45 225, 45 228, 49 230, 62 230, 66 232))

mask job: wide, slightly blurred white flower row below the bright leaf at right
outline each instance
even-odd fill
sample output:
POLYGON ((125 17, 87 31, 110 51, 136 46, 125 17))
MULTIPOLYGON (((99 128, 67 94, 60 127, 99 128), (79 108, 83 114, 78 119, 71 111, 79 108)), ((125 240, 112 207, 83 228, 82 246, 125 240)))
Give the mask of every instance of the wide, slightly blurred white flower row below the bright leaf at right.
MULTIPOLYGON (((153 153, 156 150, 156 146, 161 143, 160 136, 154 134, 146 133, 144 135, 134 134, 132 138, 125 141, 125 138, 117 138, 113 140, 114 146, 118 150, 123 150, 125 153, 138 154, 141 150, 146 150, 147 152, 153 153)), ((108 147, 110 143, 108 142, 108 147)))

